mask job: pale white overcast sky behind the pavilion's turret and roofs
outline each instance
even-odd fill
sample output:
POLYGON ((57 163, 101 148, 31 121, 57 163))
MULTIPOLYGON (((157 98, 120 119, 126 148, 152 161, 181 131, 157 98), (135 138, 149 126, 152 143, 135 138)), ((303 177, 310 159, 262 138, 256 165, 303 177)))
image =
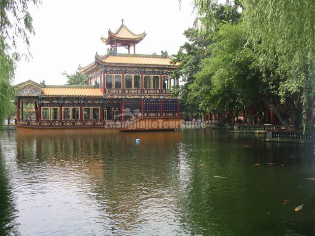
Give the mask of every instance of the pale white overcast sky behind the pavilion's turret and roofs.
MULTIPOLYGON (((106 54, 101 35, 107 37, 124 24, 134 33, 147 32, 136 45, 137 54, 169 55, 186 42, 185 29, 193 24, 191 0, 42 0, 32 7, 35 36, 31 38, 32 59, 17 64, 14 84, 26 80, 46 85, 66 83, 63 71, 75 72, 78 65, 94 61, 95 53, 106 54)), ((21 48, 20 48, 21 50, 21 48)), ((119 53, 127 53, 124 48, 119 53)), ((130 52, 133 52, 131 49, 130 52)))

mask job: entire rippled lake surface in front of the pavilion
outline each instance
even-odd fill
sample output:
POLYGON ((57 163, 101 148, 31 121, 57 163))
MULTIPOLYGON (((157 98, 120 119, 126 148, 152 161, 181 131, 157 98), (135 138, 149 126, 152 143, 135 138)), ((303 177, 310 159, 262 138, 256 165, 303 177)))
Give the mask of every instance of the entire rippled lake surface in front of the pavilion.
POLYGON ((0 235, 315 235, 315 146, 263 138, 4 132, 0 235))

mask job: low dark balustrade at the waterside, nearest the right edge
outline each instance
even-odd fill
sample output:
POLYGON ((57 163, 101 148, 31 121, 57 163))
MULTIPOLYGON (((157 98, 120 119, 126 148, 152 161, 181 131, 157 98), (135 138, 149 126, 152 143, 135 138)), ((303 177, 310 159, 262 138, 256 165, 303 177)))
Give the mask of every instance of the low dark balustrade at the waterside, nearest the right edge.
POLYGON ((315 142, 315 131, 268 130, 267 139, 315 142))

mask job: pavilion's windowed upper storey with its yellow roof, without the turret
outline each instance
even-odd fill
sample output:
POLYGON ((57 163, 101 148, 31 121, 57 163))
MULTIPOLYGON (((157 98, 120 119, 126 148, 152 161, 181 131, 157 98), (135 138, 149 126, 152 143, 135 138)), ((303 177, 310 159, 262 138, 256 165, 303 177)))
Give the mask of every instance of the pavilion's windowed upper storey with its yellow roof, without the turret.
POLYGON ((173 58, 160 55, 106 54, 95 55, 88 66, 79 71, 88 76, 88 85, 96 85, 108 98, 171 97, 169 89, 178 86, 172 78, 177 64, 173 58))

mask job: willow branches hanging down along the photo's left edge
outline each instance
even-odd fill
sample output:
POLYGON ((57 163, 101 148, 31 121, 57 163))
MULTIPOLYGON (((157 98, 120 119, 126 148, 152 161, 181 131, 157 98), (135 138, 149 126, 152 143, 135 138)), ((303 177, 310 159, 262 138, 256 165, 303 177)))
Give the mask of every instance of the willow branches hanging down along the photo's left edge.
MULTIPOLYGON (((29 37, 34 34, 32 17, 28 11, 30 3, 37 5, 39 0, 0 1, 0 127, 9 110, 13 97, 11 83, 14 78, 15 62, 20 59, 15 52, 16 41, 30 46, 29 37)), ((27 56, 22 54, 22 56, 27 56)))

